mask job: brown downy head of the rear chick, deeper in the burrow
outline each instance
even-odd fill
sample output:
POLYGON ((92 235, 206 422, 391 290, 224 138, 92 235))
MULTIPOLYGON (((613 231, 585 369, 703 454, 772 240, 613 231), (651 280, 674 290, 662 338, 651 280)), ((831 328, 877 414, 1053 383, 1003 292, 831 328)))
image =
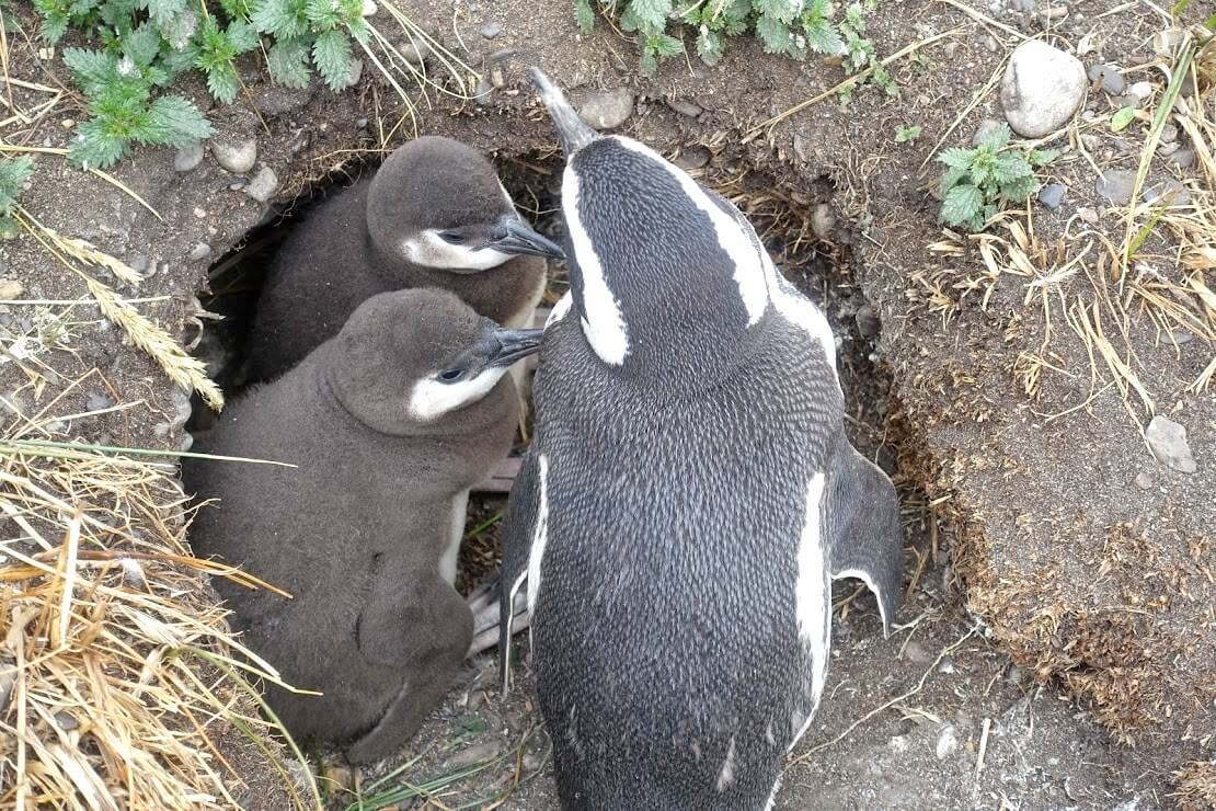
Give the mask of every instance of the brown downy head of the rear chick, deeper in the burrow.
POLYGON ((415 139, 389 156, 367 193, 367 229, 382 253, 455 274, 519 254, 562 258, 519 216, 490 162, 447 137, 415 139))

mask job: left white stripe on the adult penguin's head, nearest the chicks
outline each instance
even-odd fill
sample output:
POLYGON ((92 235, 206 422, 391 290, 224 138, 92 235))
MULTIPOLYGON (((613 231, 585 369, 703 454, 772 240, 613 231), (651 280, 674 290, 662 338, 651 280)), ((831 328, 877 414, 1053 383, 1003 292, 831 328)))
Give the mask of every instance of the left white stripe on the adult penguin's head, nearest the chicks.
POLYGON ((625 362, 629 354, 629 332, 620 304, 604 281, 603 265, 591 243, 591 236, 582 227, 579 216, 579 176, 565 165, 562 178, 562 212, 565 214, 565 227, 570 233, 574 259, 582 275, 582 334, 599 360, 613 366, 625 362))

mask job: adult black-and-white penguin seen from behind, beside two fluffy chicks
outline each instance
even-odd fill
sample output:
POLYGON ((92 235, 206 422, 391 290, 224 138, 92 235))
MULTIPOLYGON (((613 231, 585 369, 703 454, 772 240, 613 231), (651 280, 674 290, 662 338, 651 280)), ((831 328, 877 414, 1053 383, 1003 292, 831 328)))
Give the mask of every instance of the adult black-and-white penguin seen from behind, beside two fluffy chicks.
POLYGON ((572 286, 502 601, 527 591, 562 804, 759 811, 823 692, 831 580, 862 578, 890 629, 895 490, 845 438, 826 319, 738 209, 534 78, 567 153, 572 286))

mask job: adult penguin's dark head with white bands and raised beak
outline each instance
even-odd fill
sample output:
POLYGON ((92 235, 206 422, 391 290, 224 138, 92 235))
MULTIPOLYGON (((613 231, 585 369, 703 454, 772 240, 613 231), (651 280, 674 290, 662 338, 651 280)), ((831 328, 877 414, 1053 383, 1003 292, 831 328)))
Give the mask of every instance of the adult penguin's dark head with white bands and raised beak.
POLYGON ((601 361, 655 383, 711 383, 738 364, 776 271, 734 205, 653 150, 598 136, 534 73, 567 164, 573 309, 601 361))

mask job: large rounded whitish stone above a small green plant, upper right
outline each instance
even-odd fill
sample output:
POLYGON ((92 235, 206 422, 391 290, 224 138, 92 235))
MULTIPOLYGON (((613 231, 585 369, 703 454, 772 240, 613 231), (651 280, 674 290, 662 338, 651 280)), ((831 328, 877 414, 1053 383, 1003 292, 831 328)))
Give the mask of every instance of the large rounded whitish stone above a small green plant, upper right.
POLYGON ((1042 137, 1068 123, 1081 106, 1085 66, 1040 40, 1019 45, 1001 79, 1006 120, 1023 137, 1042 137))

